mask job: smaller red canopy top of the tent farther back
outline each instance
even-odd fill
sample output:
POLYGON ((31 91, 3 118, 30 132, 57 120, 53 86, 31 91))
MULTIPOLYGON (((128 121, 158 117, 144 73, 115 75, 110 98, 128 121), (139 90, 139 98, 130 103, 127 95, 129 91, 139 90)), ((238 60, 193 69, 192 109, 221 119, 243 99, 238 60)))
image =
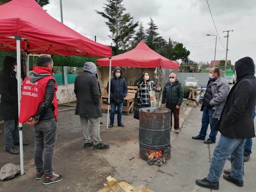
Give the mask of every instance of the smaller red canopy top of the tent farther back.
MULTIPOLYGON (((109 59, 98 59, 97 64, 99 66, 109 66, 109 59)), ((143 41, 140 41, 133 50, 113 56, 112 66, 178 69, 179 63, 171 61, 157 52, 154 52, 143 41)))

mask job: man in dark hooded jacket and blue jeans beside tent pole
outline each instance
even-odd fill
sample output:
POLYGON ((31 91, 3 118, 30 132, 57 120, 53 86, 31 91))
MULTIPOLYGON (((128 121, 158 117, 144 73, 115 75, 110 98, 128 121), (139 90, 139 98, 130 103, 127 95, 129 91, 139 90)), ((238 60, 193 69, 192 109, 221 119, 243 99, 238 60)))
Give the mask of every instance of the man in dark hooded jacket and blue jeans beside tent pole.
MULTIPOLYGON (((109 83, 109 82, 108 82, 109 83)), ((124 127, 122 124, 122 109, 124 98, 128 92, 128 87, 126 80, 122 77, 122 70, 120 67, 116 67, 114 69, 114 77, 110 80, 110 104, 111 104, 111 111, 110 111, 110 124, 108 127, 114 126, 114 118, 115 118, 115 111, 117 107, 117 125, 120 127, 124 127)))

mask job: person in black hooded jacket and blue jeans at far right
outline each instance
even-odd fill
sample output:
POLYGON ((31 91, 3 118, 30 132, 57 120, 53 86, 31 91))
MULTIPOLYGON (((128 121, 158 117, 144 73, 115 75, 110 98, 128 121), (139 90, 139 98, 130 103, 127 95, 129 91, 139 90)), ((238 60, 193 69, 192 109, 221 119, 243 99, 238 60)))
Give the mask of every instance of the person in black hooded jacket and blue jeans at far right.
POLYGON ((256 78, 254 62, 244 57, 235 63, 236 84, 232 87, 215 129, 221 135, 214 148, 209 174, 196 180, 201 187, 218 189, 219 180, 227 158, 231 158, 231 173, 223 174, 224 180, 242 187, 244 144, 254 134, 252 113, 256 104, 256 78))

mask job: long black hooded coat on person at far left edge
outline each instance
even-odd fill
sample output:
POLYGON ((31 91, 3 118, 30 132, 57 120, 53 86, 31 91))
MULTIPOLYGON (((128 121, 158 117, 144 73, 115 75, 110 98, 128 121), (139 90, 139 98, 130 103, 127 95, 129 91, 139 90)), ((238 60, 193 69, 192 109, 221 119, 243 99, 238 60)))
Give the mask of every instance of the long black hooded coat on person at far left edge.
POLYGON ((18 118, 18 82, 14 72, 15 58, 6 56, 4 69, 0 71, 0 118, 18 118))

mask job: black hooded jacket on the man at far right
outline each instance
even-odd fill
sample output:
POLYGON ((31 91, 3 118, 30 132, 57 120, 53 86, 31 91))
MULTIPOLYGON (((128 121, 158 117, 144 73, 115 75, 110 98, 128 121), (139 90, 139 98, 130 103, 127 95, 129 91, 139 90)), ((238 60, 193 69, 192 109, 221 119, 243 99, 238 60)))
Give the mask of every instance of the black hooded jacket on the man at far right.
POLYGON ((252 138, 253 109, 256 105, 254 62, 244 57, 235 63, 237 82, 228 94, 220 120, 215 129, 229 138, 252 138))

